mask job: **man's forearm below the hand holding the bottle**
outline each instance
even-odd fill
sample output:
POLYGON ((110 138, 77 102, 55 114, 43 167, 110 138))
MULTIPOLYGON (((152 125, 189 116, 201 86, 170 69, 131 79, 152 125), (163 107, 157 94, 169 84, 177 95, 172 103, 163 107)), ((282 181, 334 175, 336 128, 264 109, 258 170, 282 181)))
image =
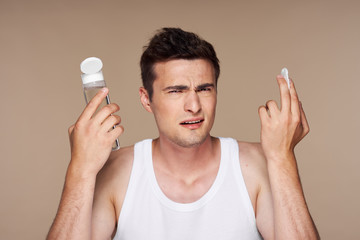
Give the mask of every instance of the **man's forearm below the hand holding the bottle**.
POLYGON ((81 176, 71 165, 59 209, 47 239, 90 239, 96 176, 81 176))

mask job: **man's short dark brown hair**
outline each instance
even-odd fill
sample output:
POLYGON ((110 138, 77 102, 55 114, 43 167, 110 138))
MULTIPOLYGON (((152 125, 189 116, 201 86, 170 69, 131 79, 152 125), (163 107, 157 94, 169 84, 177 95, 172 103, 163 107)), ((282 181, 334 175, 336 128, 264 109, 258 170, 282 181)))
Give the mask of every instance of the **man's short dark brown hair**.
POLYGON ((156 79, 154 66, 158 62, 174 59, 208 60, 214 67, 215 84, 217 84, 220 65, 216 52, 209 42, 195 33, 186 32, 180 28, 162 28, 150 39, 149 45, 144 49, 140 60, 141 78, 150 101, 153 95, 153 83, 156 79))

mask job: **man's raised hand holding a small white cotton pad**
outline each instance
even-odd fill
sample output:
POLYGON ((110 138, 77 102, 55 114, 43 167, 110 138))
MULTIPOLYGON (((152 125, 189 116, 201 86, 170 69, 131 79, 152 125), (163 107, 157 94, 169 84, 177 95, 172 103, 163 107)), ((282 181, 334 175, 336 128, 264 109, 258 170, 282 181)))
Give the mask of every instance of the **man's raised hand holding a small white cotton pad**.
POLYGON ((289 90, 283 76, 277 76, 277 81, 281 109, 275 101, 268 101, 265 106, 259 108, 261 145, 268 160, 293 154, 296 144, 309 132, 309 125, 294 83, 291 81, 289 90))

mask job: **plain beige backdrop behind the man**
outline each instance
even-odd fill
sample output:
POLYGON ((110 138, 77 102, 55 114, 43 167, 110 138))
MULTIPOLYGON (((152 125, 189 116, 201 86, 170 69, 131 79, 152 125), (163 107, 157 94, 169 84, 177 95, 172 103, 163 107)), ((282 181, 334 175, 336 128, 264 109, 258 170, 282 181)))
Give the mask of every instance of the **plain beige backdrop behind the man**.
POLYGON ((121 106, 121 145, 156 137, 138 99, 142 47, 160 27, 213 43, 221 60, 216 136, 259 140, 257 108, 287 66, 311 132, 297 148, 323 239, 360 239, 358 1, 0 0, 0 239, 43 239, 84 107, 80 62, 102 58, 121 106))

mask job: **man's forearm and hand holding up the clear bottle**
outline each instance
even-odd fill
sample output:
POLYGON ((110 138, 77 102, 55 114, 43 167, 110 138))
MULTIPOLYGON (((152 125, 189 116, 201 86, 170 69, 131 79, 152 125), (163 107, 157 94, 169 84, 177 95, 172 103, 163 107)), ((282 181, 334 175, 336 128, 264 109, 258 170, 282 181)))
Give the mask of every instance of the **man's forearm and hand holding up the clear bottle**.
POLYGON ((89 102, 75 125, 69 128, 71 161, 54 223, 47 239, 90 239, 96 175, 107 161, 112 144, 123 132, 116 104, 96 109, 106 97, 104 88, 89 102))

